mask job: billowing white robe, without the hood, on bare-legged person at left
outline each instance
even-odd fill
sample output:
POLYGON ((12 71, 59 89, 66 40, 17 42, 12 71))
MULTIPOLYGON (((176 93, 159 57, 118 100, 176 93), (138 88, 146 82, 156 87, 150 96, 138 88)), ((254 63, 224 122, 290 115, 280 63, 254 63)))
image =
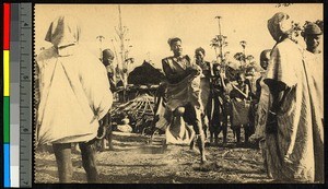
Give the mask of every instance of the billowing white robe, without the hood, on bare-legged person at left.
POLYGON ((65 49, 51 47, 36 58, 38 144, 92 140, 113 104, 102 62, 78 45, 65 49))

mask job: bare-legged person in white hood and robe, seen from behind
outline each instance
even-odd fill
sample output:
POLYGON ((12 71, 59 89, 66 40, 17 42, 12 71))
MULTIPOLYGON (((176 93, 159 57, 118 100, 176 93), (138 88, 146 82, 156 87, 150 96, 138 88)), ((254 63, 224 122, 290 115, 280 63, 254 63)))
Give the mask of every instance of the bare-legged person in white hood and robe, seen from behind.
POLYGON ((52 47, 37 56, 39 99, 36 143, 52 143, 59 182, 72 181, 71 144, 79 142, 87 182, 97 181, 94 139, 113 95, 106 69, 79 45, 81 28, 71 16, 51 22, 46 40, 52 47))

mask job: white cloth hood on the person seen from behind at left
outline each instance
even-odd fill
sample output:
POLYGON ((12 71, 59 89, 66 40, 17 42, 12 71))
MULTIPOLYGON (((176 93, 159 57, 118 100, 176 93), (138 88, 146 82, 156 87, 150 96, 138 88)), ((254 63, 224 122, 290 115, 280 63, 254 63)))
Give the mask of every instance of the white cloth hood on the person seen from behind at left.
POLYGON ((51 22, 45 40, 55 47, 63 47, 79 43, 81 27, 77 19, 61 15, 51 22))

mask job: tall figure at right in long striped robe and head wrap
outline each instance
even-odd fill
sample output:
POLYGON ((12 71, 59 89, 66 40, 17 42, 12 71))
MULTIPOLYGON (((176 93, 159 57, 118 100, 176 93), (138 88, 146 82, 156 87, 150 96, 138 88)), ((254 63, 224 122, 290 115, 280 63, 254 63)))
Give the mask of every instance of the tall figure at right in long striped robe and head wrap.
POLYGON ((277 42, 265 83, 272 95, 266 126, 268 168, 284 182, 324 181, 324 126, 304 49, 290 39, 285 13, 268 21, 277 42))

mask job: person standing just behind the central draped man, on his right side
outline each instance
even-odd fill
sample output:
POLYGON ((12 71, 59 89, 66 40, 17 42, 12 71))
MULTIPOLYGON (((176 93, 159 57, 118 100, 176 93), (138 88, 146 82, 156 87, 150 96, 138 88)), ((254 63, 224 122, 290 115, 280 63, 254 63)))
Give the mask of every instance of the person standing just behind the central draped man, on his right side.
POLYGON ((211 120, 211 109, 212 109, 212 94, 211 94, 211 63, 204 61, 206 51, 203 48, 199 47, 195 50, 196 64, 201 68, 200 76, 200 98, 203 107, 202 122, 203 132, 207 140, 207 132, 209 128, 209 122, 211 120))

